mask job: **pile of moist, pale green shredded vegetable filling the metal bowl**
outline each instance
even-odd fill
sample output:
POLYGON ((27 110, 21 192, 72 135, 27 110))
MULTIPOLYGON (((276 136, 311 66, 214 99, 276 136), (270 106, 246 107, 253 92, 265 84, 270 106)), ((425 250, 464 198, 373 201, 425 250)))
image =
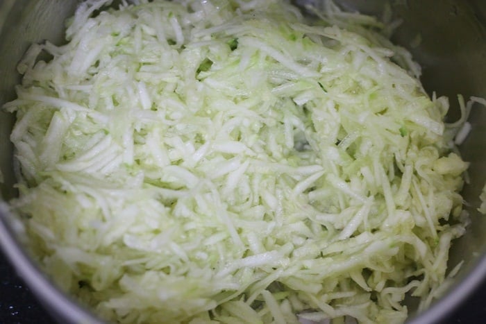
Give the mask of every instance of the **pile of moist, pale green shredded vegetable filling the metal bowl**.
POLYGON ((405 296, 430 304, 468 165, 384 24, 330 1, 109 3, 31 46, 4 106, 10 209, 62 289, 119 323, 401 323, 405 296))

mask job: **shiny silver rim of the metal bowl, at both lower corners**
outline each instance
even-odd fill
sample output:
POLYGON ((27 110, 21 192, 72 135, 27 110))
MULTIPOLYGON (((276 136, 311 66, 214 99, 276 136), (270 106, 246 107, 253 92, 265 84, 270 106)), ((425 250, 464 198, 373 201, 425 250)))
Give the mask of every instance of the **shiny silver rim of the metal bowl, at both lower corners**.
MULTIPOLYGON (((12 215, 8 211, 7 204, 0 201, 0 249, 3 250, 6 259, 13 266, 17 275, 26 282, 44 309, 59 323, 103 324, 104 322, 97 318, 92 311, 61 291, 53 281, 47 278, 33 259, 28 257, 26 250, 15 237, 10 217, 12 215)), ((486 280, 486 254, 481 255, 478 262, 469 269, 453 287, 446 291, 444 296, 433 302, 433 305, 423 312, 413 314, 405 323, 439 323, 460 307, 486 280)))

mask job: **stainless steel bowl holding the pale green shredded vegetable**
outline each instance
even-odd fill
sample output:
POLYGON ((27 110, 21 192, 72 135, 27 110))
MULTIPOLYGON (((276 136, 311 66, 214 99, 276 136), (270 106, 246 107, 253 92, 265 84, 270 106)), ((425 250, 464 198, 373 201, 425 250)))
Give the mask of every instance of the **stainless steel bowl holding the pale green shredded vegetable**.
MULTIPOLYGON (((20 76, 15 66, 29 44, 63 38, 64 21, 73 14, 78 0, 2 0, 0 1, 0 105, 15 98, 14 85, 20 76)), ((296 3, 319 0, 295 1, 296 3)), ((486 96, 486 2, 482 0, 341 0, 345 8, 371 15, 382 15, 391 3, 395 18, 403 23, 393 40, 408 48, 423 67, 422 81, 428 92, 449 96, 486 96), (417 35, 421 42, 417 44, 417 35)), ((453 104, 449 118, 458 117, 453 104)), ((474 107, 469 119, 472 131, 460 147, 464 160, 471 162, 469 184, 464 188, 471 225, 464 237, 454 242, 450 262, 464 260, 462 269, 444 297, 426 312, 411 312, 410 323, 436 323, 451 312, 486 276, 486 216, 476 208, 486 181, 486 110, 474 107)), ((0 111, 1 201, 17 195, 9 141, 14 117, 0 111)), ((60 323, 99 323, 87 309, 60 292, 37 268, 22 248, 15 222, 0 203, 0 245, 19 275, 37 298, 60 323)))

